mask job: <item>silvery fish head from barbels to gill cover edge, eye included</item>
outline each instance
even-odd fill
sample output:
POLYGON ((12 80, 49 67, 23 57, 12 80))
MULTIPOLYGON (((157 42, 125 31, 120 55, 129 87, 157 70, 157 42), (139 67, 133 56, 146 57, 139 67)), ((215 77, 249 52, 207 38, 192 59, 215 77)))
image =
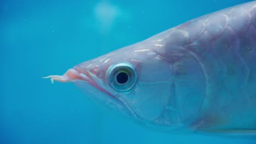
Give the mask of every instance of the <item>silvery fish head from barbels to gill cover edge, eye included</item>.
POLYGON ((133 44, 47 78, 74 82, 91 99, 139 123, 164 125, 173 93, 171 66, 150 47, 147 41, 133 44))

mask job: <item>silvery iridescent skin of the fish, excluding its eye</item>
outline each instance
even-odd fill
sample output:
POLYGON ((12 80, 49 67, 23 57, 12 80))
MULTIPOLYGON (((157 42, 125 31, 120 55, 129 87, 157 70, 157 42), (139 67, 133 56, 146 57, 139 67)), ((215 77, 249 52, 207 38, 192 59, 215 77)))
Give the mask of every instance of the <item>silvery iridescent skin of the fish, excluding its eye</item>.
POLYGON ((135 121, 164 129, 256 129, 256 1, 188 21, 139 43, 75 65, 52 81, 135 121), (117 63, 135 68, 129 91, 109 85, 117 63))

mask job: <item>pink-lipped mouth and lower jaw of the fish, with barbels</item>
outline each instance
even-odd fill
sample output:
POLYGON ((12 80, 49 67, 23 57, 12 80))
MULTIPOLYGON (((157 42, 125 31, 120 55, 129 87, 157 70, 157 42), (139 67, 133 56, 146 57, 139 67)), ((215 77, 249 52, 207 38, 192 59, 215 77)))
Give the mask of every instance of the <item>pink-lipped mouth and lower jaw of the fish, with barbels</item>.
POLYGON ((50 75, 43 77, 44 79, 51 79, 51 82, 73 82, 80 90, 92 100, 99 103, 107 104, 108 107, 123 113, 128 117, 137 117, 136 113, 126 103, 124 99, 118 96, 117 93, 112 94, 107 91, 106 86, 103 85, 103 81, 86 69, 74 67, 74 69, 68 69, 63 75, 50 75))

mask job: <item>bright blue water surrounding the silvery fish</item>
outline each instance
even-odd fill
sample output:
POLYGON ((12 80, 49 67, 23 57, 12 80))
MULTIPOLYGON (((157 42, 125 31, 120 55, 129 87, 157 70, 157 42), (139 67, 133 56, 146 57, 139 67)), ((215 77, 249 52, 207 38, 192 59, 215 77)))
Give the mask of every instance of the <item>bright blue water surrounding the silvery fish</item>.
POLYGON ((256 143, 159 133, 42 79, 246 1, 0 1, 0 143, 256 143))

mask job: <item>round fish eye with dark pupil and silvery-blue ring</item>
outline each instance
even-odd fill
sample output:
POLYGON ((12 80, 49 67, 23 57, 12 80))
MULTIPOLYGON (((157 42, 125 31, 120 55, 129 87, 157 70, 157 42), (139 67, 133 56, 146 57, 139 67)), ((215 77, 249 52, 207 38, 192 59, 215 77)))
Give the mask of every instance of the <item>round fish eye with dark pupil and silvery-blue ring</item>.
POLYGON ((107 81, 117 91, 129 91, 137 82, 137 73, 129 63, 113 64, 107 70, 107 81))

